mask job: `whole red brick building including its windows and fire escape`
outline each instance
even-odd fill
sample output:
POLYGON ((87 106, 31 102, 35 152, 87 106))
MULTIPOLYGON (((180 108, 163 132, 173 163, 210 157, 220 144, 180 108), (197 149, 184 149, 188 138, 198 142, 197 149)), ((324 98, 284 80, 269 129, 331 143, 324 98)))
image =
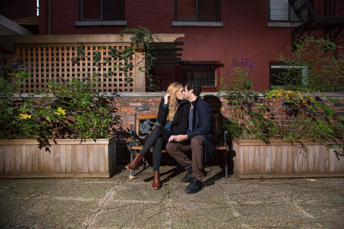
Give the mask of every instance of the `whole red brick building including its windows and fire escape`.
MULTIPOLYGON (((317 16, 324 16, 329 15, 327 8, 337 7, 329 15, 338 16, 337 22, 332 21, 326 28, 318 23, 319 28, 306 28, 303 34, 317 30, 311 35, 322 36, 326 31, 327 38, 332 32, 332 36, 338 33, 337 42, 343 40, 344 10, 341 8, 344 3, 321 0, 304 8, 303 1, 291 2, 301 8, 300 16, 305 20, 313 16, 313 11, 317 16), (332 6, 326 5, 329 2, 332 6), (332 30, 327 30, 331 26, 332 30)), ((39 3, 40 35, 118 34, 123 28, 138 25, 155 34, 184 34, 184 38, 177 40, 183 42, 177 46, 182 48, 178 51, 181 62, 175 64, 177 67, 154 69, 160 90, 166 90, 173 81, 183 82, 193 76, 201 80, 204 91, 215 91, 215 77, 225 77, 232 61, 239 58, 255 61, 250 75, 255 90, 268 89, 270 64, 280 54, 290 55, 293 39, 302 32, 293 34, 295 22, 300 19, 286 0, 40 0, 39 3)))

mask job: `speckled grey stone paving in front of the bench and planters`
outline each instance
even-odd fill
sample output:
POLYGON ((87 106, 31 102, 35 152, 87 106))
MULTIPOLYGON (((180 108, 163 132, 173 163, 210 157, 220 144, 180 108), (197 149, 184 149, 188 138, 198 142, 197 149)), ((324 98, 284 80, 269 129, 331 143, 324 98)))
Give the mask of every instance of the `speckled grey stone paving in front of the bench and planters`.
POLYGON ((184 192, 182 167, 111 178, 0 179, 0 228, 344 228, 344 178, 224 178, 207 165, 202 190, 184 192))

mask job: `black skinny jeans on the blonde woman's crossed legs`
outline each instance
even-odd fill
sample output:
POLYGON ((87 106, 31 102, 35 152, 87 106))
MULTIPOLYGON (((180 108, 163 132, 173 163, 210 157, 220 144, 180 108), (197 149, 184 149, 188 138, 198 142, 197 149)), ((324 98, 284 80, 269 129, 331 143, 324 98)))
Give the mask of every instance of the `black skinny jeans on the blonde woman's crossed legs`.
POLYGON ((139 154, 146 154, 153 146, 153 171, 159 171, 162 146, 166 145, 172 133, 162 126, 155 126, 139 154))

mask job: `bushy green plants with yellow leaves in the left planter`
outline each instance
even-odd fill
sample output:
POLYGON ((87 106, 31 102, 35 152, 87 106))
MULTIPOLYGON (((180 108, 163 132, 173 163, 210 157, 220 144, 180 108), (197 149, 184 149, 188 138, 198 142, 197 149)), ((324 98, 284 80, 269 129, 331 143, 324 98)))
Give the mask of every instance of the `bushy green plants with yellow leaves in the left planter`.
MULTIPOLYGON (((28 74, 25 68, 12 70, 17 83, 28 74)), ((49 81, 47 88, 36 92, 39 99, 33 94, 16 99, 15 85, 0 78, 0 139, 37 139, 46 147, 48 139, 109 137, 109 126, 118 118, 112 117, 112 108, 94 90, 98 83, 95 76, 85 82, 77 78, 49 81)))

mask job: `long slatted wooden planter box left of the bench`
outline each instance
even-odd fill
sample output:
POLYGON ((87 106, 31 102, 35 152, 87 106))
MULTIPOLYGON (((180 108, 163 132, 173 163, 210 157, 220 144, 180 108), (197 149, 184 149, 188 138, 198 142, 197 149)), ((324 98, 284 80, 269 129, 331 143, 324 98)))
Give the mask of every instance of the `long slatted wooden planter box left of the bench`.
POLYGON ((36 140, 0 140, 0 178, 108 178, 117 167, 116 137, 51 140, 50 152, 36 140))

